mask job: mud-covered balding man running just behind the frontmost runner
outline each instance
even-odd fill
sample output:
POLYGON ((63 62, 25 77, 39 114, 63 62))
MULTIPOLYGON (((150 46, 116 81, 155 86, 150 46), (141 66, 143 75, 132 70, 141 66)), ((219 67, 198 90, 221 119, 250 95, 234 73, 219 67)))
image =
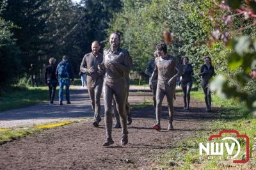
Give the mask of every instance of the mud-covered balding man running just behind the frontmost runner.
POLYGON ((103 56, 99 52, 99 42, 92 43, 92 52, 85 54, 80 66, 80 71, 87 74, 87 88, 94 112, 94 120, 92 125, 99 127, 100 118, 100 96, 102 93, 104 70, 99 70, 98 65, 103 61, 103 56))

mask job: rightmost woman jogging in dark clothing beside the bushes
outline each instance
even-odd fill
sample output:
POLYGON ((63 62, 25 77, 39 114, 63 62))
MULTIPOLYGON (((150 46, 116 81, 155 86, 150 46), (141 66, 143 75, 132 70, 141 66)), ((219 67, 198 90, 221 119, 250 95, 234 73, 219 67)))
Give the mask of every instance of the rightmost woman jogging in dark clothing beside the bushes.
POLYGON ((211 111, 211 91, 209 88, 209 81, 215 75, 214 67, 212 66, 211 58, 206 56, 204 58, 205 64, 201 66, 199 76, 202 76, 202 88, 204 89, 204 99, 206 104, 206 111, 211 111))

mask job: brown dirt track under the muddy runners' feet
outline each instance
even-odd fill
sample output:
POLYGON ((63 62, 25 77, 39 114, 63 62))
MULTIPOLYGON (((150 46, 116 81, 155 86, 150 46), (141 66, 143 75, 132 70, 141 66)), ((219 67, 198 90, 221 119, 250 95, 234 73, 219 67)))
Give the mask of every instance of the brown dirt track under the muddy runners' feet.
MULTIPOLYGON (((129 100, 131 104, 138 104, 148 98, 151 98, 150 92, 131 92, 129 100)), ((121 130, 114 129, 115 144, 104 148, 104 123, 94 128, 91 121, 45 130, 3 144, 0 146, 0 169, 151 169, 156 154, 195 135, 195 132, 206 130, 207 123, 215 118, 214 112, 205 112, 202 102, 191 100, 189 112, 182 111, 182 105, 182 97, 177 97, 175 130, 172 132, 166 131, 166 107, 163 107, 161 132, 152 129, 155 123, 153 107, 133 111, 127 146, 120 145, 121 130)), ((72 112, 82 112, 83 108, 73 108, 72 112)))

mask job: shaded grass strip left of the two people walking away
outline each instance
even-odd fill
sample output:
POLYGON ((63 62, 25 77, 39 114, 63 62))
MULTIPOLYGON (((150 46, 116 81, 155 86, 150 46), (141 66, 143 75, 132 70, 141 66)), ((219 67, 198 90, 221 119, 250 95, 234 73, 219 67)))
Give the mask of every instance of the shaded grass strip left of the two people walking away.
POLYGON ((38 102, 47 101, 49 97, 48 87, 17 87, 12 86, 4 89, 0 97, 0 111, 17 109, 38 102))

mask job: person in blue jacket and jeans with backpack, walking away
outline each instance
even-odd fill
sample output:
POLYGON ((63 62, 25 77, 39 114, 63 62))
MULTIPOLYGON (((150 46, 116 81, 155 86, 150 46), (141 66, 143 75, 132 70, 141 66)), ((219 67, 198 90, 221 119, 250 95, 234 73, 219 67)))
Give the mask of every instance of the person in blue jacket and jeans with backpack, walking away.
POLYGON ((66 86, 66 100, 67 104, 71 104, 69 96, 70 79, 74 82, 74 70, 72 65, 68 62, 67 56, 63 56, 62 61, 58 64, 56 69, 56 77, 58 77, 60 91, 59 91, 59 104, 63 105, 63 88, 66 86))

